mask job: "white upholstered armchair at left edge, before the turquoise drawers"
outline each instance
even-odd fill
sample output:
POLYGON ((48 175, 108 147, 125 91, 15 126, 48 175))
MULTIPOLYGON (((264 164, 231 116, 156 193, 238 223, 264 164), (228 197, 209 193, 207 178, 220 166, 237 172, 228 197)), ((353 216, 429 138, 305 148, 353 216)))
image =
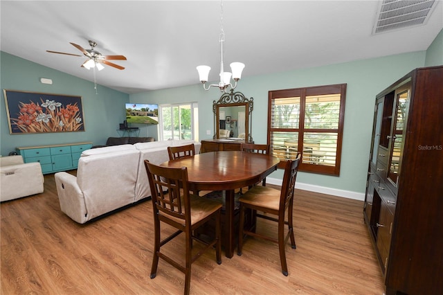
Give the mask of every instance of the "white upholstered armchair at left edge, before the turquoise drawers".
POLYGON ((43 193, 44 177, 40 163, 24 163, 23 157, 0 157, 0 201, 43 193))

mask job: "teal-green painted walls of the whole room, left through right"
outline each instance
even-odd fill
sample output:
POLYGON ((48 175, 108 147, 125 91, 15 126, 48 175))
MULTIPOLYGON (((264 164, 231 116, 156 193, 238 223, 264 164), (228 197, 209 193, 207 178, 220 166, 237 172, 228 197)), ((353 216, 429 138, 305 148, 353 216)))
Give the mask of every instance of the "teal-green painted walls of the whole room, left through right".
MULTIPOLYGON (((254 99, 251 118, 253 140, 256 143, 266 143, 268 91, 347 83, 341 175, 331 177, 300 172, 298 181, 311 186, 364 193, 375 96, 412 69, 425 65, 442 65, 442 41, 443 35, 440 32, 427 51, 257 75, 240 80, 236 91, 241 91, 248 98, 254 99)), ((247 66, 246 64, 245 73, 247 66)), ((131 95, 99 85, 96 94, 91 82, 2 52, 1 89, 82 96, 86 131, 10 135, 3 102, 0 103, 1 154, 6 155, 17 146, 78 141, 92 141, 94 145, 104 144, 108 136, 118 135, 116 134, 118 123, 125 119, 123 105, 128 101, 158 104, 198 102, 199 138, 212 138, 213 100, 218 100, 221 93, 217 89, 204 91, 201 83, 197 81, 197 71, 195 79, 196 83, 190 86, 131 95), (42 77, 53 79, 53 85, 41 84, 39 78, 42 77), (211 134, 207 135, 206 130, 210 130, 211 134)), ((1 96, 3 98, 3 93, 1 96)), ((158 138, 157 125, 138 127, 141 127, 140 136, 158 138)), ((271 177, 281 179, 282 171, 274 172, 271 177)))

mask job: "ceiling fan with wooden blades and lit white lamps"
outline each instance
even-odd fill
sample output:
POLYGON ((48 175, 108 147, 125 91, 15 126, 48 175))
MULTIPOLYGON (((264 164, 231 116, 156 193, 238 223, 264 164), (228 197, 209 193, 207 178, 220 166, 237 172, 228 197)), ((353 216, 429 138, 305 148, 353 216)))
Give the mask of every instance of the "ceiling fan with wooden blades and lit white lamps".
MULTIPOLYGON (((88 57, 88 59, 82 64, 83 67, 87 69, 91 69, 94 66, 97 67, 97 69, 100 71, 104 68, 102 64, 107 64, 108 66, 113 66, 116 69, 123 70, 125 69, 123 66, 119 66, 118 64, 114 64, 113 62, 109 62, 109 60, 126 60, 126 57, 124 55, 102 55, 102 53, 96 51, 94 47, 97 46, 97 42, 89 40, 89 45, 91 46, 91 49, 84 49, 82 46, 69 42, 77 48, 78 50, 82 51, 83 55, 88 57)), ((58 53, 58 54, 64 54, 64 55, 73 55, 73 56, 82 56, 78 54, 73 53, 64 53, 64 52, 58 52, 58 51, 46 51, 48 53, 58 53)))

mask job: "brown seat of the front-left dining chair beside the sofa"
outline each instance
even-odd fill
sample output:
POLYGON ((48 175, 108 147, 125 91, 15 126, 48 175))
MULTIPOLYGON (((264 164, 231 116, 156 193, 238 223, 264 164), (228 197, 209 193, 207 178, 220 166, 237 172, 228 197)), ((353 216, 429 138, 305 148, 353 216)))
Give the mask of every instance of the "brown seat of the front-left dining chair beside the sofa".
MULTIPOLYGON (((212 199, 206 199, 205 197, 199 197, 197 195, 189 195, 189 197, 191 204, 191 226, 197 224, 197 222, 201 222, 201 220, 204 220, 206 217, 212 215, 215 213, 215 211, 221 208, 221 204, 212 199)), ((183 197, 181 197, 181 199, 183 199, 183 197)), ((182 204, 184 204, 184 202, 182 202, 182 204)), ((184 205, 181 206, 181 208, 183 211, 185 210, 184 205)), ((159 211, 159 214, 162 215, 161 211, 159 211)), ((168 219, 174 220, 182 226, 185 226, 185 220, 171 215, 165 216, 167 216, 168 219)))

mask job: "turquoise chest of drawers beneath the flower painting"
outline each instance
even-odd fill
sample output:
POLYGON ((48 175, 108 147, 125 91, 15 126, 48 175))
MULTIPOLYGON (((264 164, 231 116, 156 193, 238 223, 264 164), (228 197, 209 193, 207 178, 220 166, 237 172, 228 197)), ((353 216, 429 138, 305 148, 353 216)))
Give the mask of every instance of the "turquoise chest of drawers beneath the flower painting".
POLYGON ((43 174, 76 169, 78 159, 84 150, 89 150, 92 143, 67 143, 62 145, 42 145, 17 147, 25 163, 38 162, 43 174))

